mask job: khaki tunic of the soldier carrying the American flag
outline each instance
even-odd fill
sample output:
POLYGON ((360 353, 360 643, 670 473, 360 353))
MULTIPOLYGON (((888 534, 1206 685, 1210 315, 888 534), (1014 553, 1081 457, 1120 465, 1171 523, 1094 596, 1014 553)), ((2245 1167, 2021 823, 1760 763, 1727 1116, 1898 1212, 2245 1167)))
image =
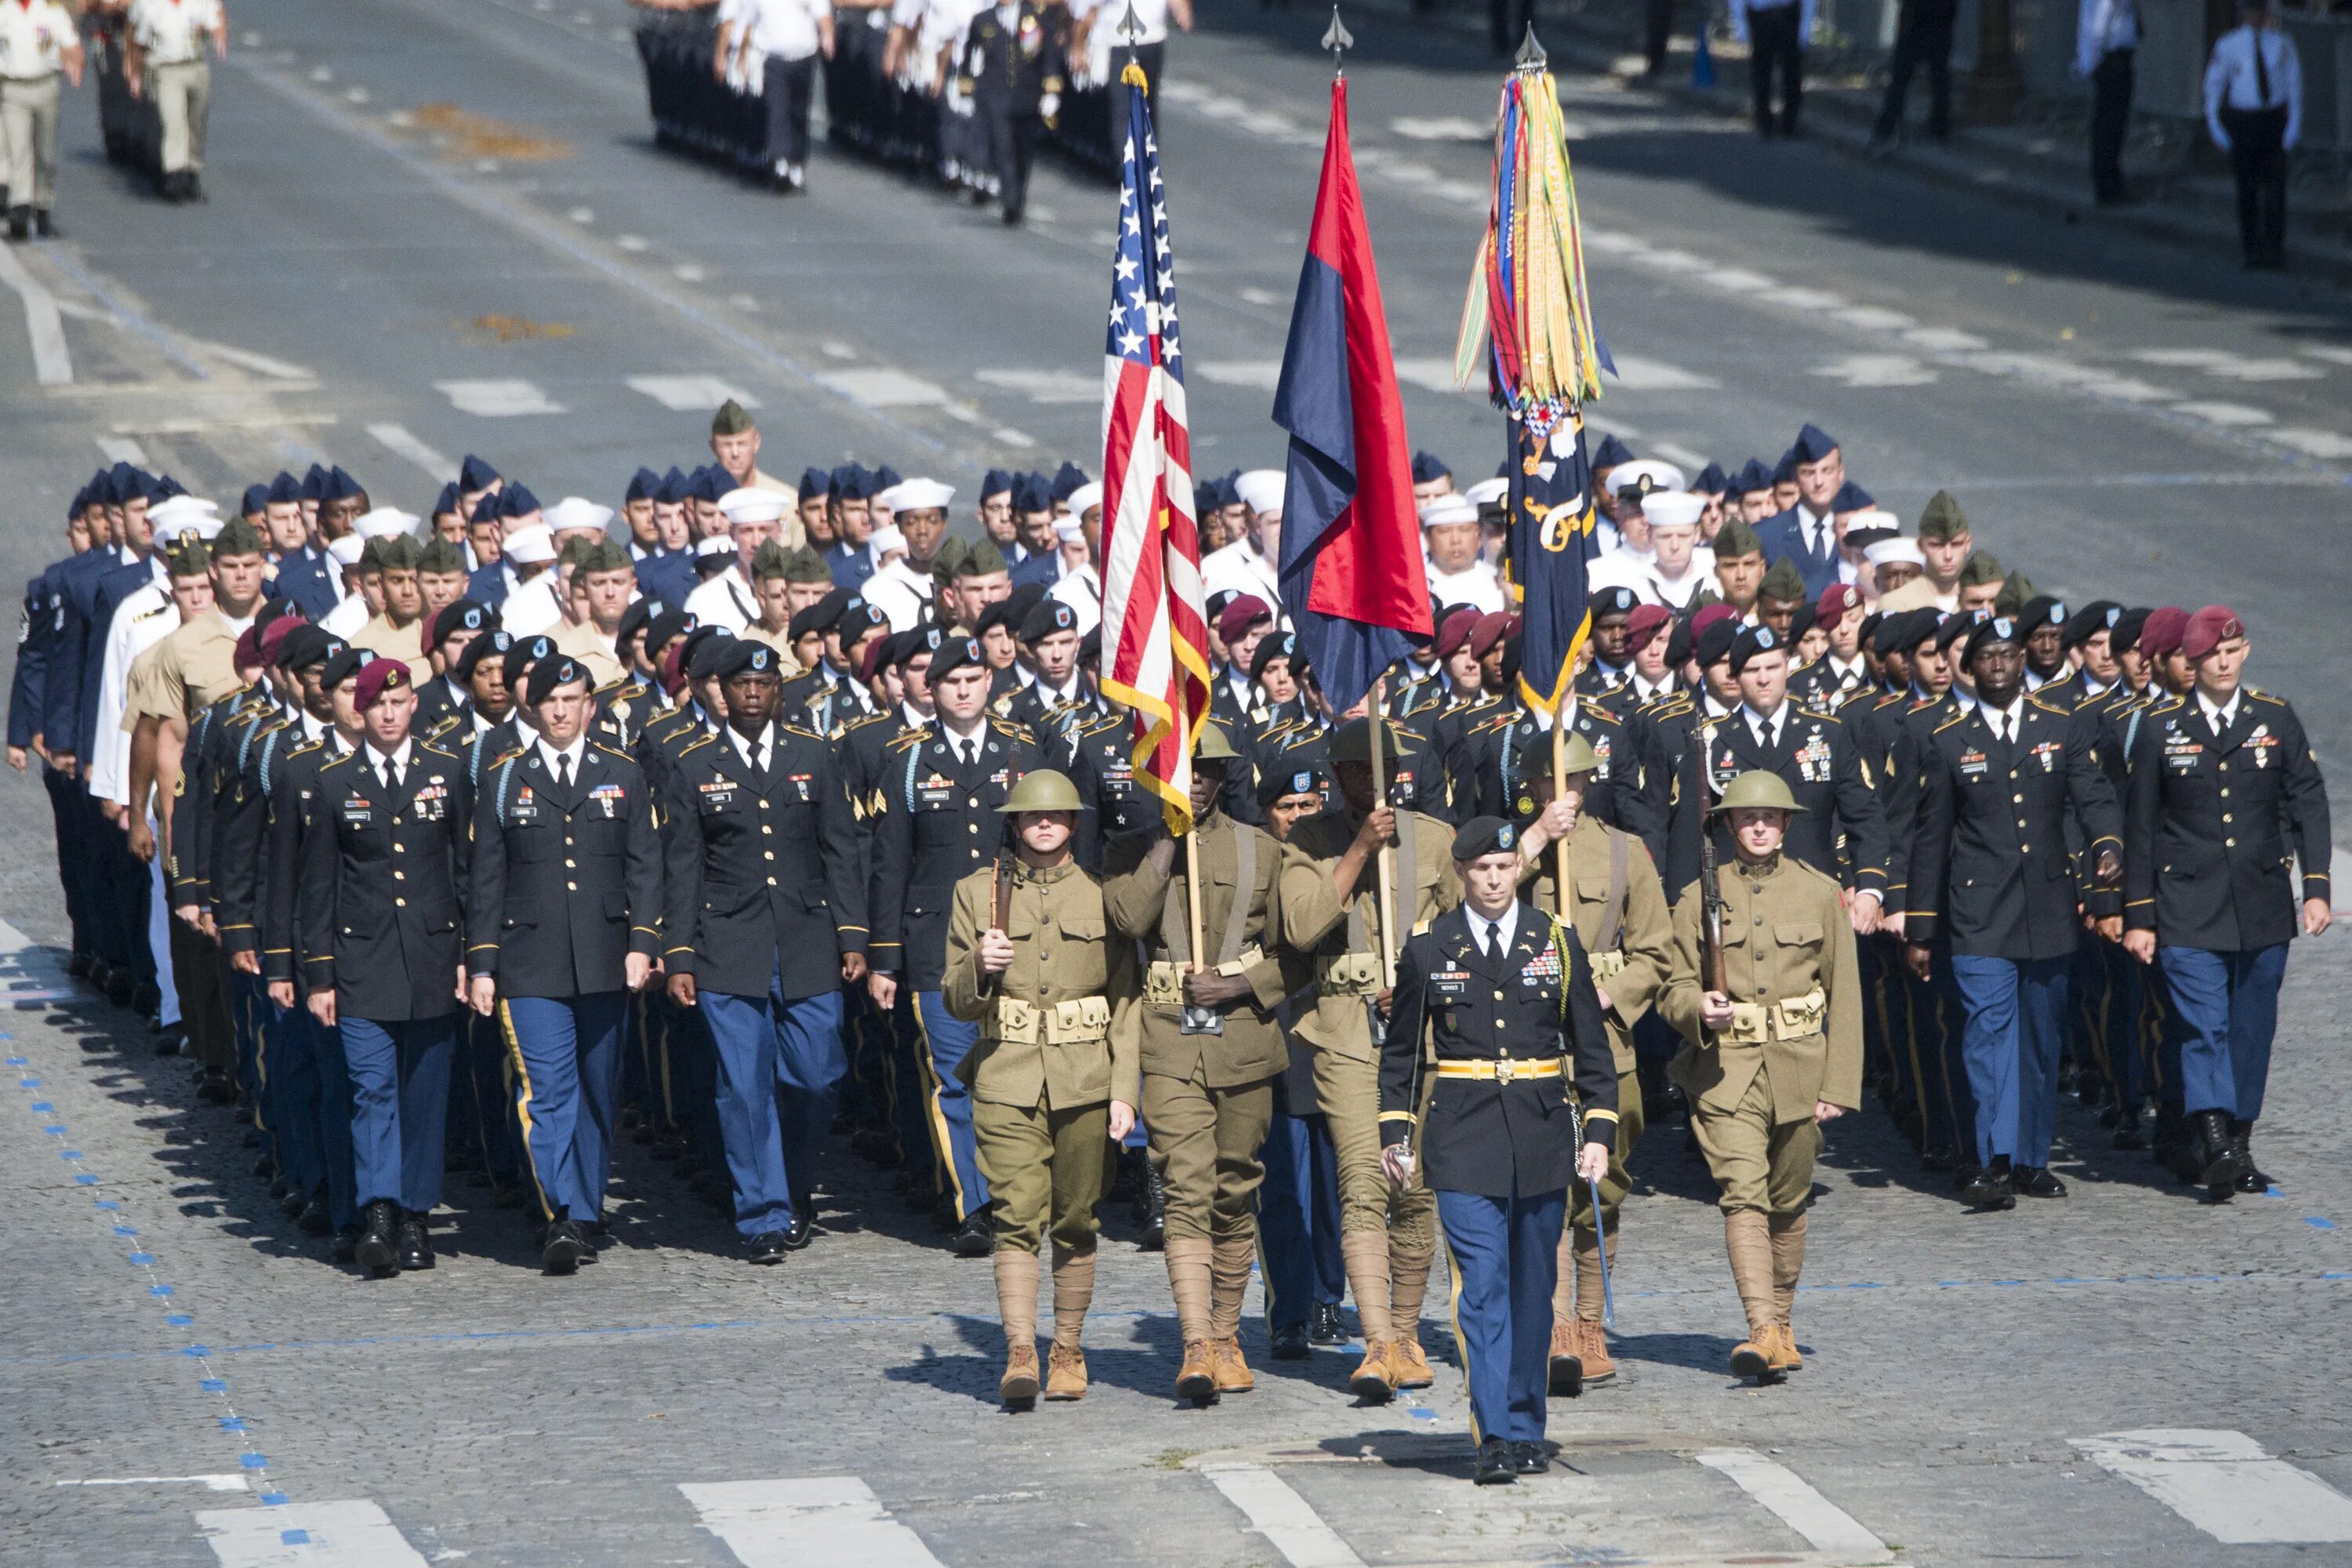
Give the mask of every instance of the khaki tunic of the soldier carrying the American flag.
MULTIPOLYGON (((1275 835, 1249 827, 1256 835, 1251 879, 1240 882, 1240 832, 1223 811, 1211 811, 1195 825, 1202 865, 1202 943, 1207 961, 1214 966, 1225 945, 1225 919, 1235 898, 1242 898, 1242 950, 1258 950, 1258 957, 1242 971, 1249 992, 1223 1009, 1223 1034, 1185 1034, 1178 1023, 1181 1006, 1145 1001, 1143 1013, 1143 1070, 1169 1077, 1207 1074, 1211 1088, 1237 1088, 1270 1079, 1291 1063, 1282 1041, 1282 1018, 1277 1009, 1289 994, 1282 973, 1282 844, 1275 835)), ((1171 875, 1162 877, 1148 858, 1150 835, 1127 835, 1112 839, 1103 856, 1103 903, 1110 924, 1124 936, 1143 940, 1143 957, 1171 961, 1176 945, 1190 947, 1190 884, 1185 877, 1185 844, 1176 844, 1171 875), (1169 940, 1169 933, 1176 940, 1169 940)))

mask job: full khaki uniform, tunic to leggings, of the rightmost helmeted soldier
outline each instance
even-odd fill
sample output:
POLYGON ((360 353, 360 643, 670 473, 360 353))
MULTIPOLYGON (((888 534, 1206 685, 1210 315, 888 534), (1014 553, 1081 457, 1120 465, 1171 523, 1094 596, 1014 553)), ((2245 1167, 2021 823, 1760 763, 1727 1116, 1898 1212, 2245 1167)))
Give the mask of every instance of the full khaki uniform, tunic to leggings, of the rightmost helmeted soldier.
POLYGON ((1724 865, 1722 896, 1731 1027, 1710 1041, 1698 1025, 1698 884, 1675 905, 1675 976, 1658 1011, 1684 1037, 1668 1074, 1691 1095, 1691 1133, 1724 1190, 1731 1276, 1762 1342, 1766 1328, 1788 1333, 1804 1267, 1813 1103, 1863 1103, 1863 990, 1835 882, 1780 853, 1724 865))

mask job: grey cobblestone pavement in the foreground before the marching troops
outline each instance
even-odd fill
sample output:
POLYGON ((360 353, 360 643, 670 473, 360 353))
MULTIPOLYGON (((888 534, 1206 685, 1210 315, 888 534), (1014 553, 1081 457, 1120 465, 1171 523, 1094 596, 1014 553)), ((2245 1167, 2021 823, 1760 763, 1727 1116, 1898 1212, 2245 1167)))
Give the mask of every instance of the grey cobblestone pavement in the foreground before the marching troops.
MULTIPOLYGON (((985 1265, 847 1152, 828 1232, 781 1269, 734 1262, 630 1145, 595 1269, 539 1276, 522 1222, 456 1185, 440 1267, 362 1281, 275 1213, 181 1063, 103 1004, 47 999, 71 983, 21 943, 0 1041, 5 1561, 2157 1566, 2209 1563, 2216 1540, 2082 1439, 2237 1432, 2352 1488, 2326 1354, 2352 1319, 2340 936, 2288 973, 2267 1199, 2206 1208, 2070 1112, 2074 1194, 1971 1218, 1882 1121, 1839 1126, 1788 1387, 1724 1375, 1719 1222, 1679 1133, 1653 1135, 1616 1276, 1623 1371, 1552 1403, 1562 1465, 1505 1493, 1465 1483, 1442 1319, 1421 1399, 1357 1408, 1348 1352, 1268 1361, 1254 1316, 1258 1389, 1178 1408, 1164 1274, 1117 1213, 1094 1394, 1000 1413, 985 1265), (755 1481, 779 1486, 694 1490, 755 1481)), ((2225 1483, 2279 1474, 2230 1465, 2225 1483)))

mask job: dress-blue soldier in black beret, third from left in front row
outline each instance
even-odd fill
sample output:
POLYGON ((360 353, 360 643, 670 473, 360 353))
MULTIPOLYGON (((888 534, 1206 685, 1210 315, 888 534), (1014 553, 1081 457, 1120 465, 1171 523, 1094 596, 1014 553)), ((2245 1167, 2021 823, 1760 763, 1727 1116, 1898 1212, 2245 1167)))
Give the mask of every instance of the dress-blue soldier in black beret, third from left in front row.
POLYGON ((866 978, 866 856, 823 736, 783 722, 779 654, 717 642, 727 726, 677 755, 666 802, 663 964, 717 1048, 734 1222, 753 1262, 816 1227, 816 1157, 842 1056, 842 985, 866 978))

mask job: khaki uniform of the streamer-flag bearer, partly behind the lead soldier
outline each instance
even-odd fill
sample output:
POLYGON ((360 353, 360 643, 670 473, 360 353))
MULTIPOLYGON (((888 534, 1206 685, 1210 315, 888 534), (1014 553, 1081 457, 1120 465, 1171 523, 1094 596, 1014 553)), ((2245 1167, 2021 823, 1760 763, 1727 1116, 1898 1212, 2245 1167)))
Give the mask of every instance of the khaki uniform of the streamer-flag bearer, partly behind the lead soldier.
MULTIPOLYGON (((1559 912, 1559 851, 1545 844, 1529 867, 1529 900, 1545 912, 1559 912)), ((1609 992, 1602 1016, 1609 1020, 1609 1056, 1618 1070, 1618 1140, 1602 1178, 1602 1232, 1609 1267, 1616 1267, 1618 1208, 1632 1190, 1625 1161, 1642 1140, 1642 1084, 1635 1077, 1632 1027, 1642 1023, 1665 976, 1675 966, 1665 886, 1642 839, 1599 818, 1578 816, 1569 832, 1569 924, 1592 957, 1592 983, 1609 992)), ((1602 1241, 1592 1225, 1592 1190, 1583 1182, 1569 1190, 1569 1229, 1559 1239, 1559 1281, 1552 1286, 1552 1354, 1585 1359, 1585 1382, 1595 1382, 1595 1363, 1609 1366, 1602 1321, 1602 1241), (1576 1349, 1562 1352, 1559 1331, 1576 1319, 1576 1349)), ((1599 1378, 1609 1373, 1602 1371, 1599 1378)))

